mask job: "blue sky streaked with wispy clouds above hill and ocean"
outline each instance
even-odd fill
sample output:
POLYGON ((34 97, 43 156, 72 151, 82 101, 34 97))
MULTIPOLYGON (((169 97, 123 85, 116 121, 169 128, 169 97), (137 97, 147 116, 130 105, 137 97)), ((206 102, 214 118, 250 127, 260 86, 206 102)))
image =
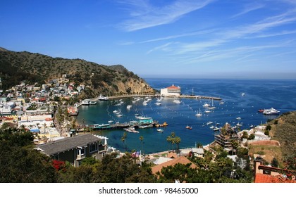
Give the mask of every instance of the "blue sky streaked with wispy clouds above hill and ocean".
POLYGON ((0 1, 0 46, 140 77, 296 79, 296 1, 0 1))

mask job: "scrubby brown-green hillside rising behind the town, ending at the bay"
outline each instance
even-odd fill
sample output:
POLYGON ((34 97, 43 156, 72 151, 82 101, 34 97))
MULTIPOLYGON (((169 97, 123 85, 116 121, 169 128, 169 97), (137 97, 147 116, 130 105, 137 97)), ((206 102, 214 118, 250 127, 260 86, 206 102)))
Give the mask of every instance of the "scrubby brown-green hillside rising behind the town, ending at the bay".
POLYGON ((70 82, 90 87, 92 96, 154 93, 147 82, 123 65, 100 65, 78 58, 52 58, 39 53, 0 49, 0 77, 3 89, 8 89, 23 80, 42 84, 62 77, 63 74, 68 75, 70 82))

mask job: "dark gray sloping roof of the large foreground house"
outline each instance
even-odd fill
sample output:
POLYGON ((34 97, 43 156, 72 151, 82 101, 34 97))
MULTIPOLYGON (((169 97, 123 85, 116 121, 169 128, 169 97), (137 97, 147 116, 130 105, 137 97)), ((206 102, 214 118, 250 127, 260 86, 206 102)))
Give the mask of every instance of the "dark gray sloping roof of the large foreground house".
POLYGON ((56 153, 71 150, 78 146, 87 146, 87 144, 92 144, 100 140, 101 139, 98 136, 94 136, 92 134, 81 134, 78 136, 52 141, 47 144, 38 145, 37 148, 40 148, 47 155, 54 155, 56 153))

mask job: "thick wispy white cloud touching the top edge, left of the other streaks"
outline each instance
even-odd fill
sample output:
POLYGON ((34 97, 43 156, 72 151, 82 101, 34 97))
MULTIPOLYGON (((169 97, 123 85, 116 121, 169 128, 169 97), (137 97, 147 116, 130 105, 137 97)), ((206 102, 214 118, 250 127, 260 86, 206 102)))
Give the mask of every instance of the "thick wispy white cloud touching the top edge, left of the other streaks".
POLYGON ((130 11, 130 16, 132 18, 125 20, 121 26, 123 30, 131 32, 173 23, 183 15, 203 8, 212 1, 214 0, 176 0, 169 5, 157 7, 149 4, 149 1, 142 0, 140 4, 138 4, 138 1, 129 0, 126 1, 126 3, 132 6, 132 11, 130 11))

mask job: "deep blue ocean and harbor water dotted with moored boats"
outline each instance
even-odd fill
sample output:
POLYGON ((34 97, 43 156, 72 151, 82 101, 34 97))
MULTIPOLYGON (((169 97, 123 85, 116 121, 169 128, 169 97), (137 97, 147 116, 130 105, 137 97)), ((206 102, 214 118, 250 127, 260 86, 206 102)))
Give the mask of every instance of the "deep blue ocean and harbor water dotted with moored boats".
MULTIPOLYGON (((137 129, 140 133, 128 133, 126 144, 128 151, 133 149, 140 151, 140 136, 144 137, 144 153, 156 153, 167 151, 171 145, 166 137, 175 132, 180 136, 180 148, 193 147, 197 143, 203 145, 214 141, 215 132, 206 125, 206 122, 214 122, 222 127, 226 122, 236 125, 242 124, 242 129, 249 129, 250 125, 260 125, 278 115, 263 115, 258 113, 260 108, 276 108, 280 114, 296 110, 296 80, 192 80, 192 79, 145 79, 154 89, 169 87, 172 84, 181 88, 182 94, 195 94, 200 96, 214 96, 222 98, 214 101, 216 109, 211 113, 204 113, 202 105, 211 103, 207 99, 182 98, 182 103, 173 103, 173 98, 165 98, 161 105, 157 106, 156 98, 143 106, 142 101, 132 103, 133 98, 123 98, 121 106, 115 106, 116 100, 98 101, 97 105, 80 106, 78 122, 82 124, 106 124, 109 120, 114 122, 129 122, 136 120, 135 114, 152 117, 159 123, 167 122, 163 127, 164 132, 156 132, 156 128, 137 129), (127 105, 132 105, 128 110, 127 105), (203 115, 195 116, 200 110, 203 115), (117 117, 113 110, 121 110, 123 117, 117 117), (238 120, 237 117, 241 119, 238 120), (186 129, 189 125, 192 129, 186 129)), ((125 151, 121 141, 124 130, 105 130, 103 135, 109 138, 109 146, 120 151, 125 151)))

